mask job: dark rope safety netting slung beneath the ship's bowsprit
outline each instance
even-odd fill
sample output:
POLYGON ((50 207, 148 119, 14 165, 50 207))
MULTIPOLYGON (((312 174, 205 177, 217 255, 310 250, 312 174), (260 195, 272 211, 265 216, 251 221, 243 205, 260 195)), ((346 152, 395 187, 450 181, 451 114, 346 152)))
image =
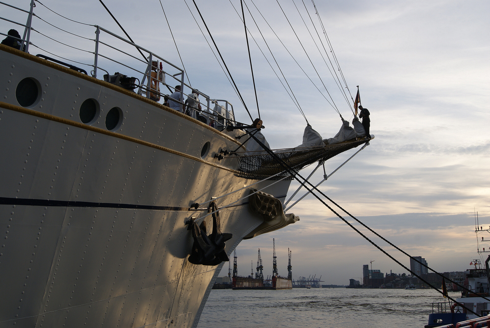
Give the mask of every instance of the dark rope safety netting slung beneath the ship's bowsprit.
MULTIPOLYGON (((290 168, 298 171, 305 165, 320 160, 326 161, 346 150, 355 148, 366 142, 368 142, 366 139, 360 141, 345 141, 332 145, 308 147, 304 150, 293 148, 290 151, 280 151, 275 154, 284 163, 288 164, 290 168)), ((289 176, 287 179, 293 179, 293 176, 288 173, 284 166, 272 158, 270 154, 239 156, 238 161, 240 163, 240 171, 242 172, 239 174, 241 178, 262 180, 282 172, 281 174, 270 178, 270 180, 279 180, 287 176, 289 176)))

